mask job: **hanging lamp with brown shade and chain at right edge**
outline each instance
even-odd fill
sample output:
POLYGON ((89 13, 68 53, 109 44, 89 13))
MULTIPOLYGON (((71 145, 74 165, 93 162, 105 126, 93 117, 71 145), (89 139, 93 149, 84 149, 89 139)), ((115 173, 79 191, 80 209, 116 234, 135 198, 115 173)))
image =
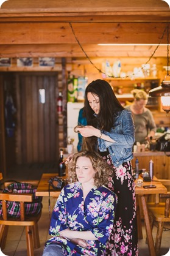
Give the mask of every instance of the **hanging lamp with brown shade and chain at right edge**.
POLYGON ((167 73, 161 85, 151 89, 149 96, 161 97, 162 109, 166 112, 166 116, 170 116, 170 75, 169 75, 169 26, 166 26, 167 32, 167 73))

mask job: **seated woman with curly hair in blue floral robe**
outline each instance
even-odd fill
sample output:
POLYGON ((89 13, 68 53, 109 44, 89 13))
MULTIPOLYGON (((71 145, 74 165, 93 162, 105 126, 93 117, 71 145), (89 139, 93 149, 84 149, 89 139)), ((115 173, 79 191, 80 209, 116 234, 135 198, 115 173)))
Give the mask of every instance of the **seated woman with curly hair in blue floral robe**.
POLYGON ((81 151, 68 171, 74 182, 57 199, 43 256, 104 256, 117 205, 116 194, 105 186, 113 170, 96 152, 81 151))

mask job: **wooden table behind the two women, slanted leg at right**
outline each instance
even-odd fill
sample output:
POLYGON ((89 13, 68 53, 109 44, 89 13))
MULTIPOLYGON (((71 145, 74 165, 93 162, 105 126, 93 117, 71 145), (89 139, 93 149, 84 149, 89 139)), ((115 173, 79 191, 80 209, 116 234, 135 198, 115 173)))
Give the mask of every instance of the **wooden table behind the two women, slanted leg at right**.
MULTIPOLYGON (((40 183, 38 184, 37 187, 37 196, 41 197, 47 197, 49 196, 49 179, 54 178, 57 176, 57 173, 43 173, 40 179, 40 183)), ((66 177, 63 177, 66 178, 66 177)), ((152 230, 151 230, 151 225, 149 221, 149 213, 147 210, 147 203, 146 203, 146 197, 147 195, 159 195, 159 194, 165 194, 167 193, 167 189, 163 184, 158 181, 158 179, 154 176, 154 180, 151 182, 144 182, 142 187, 135 187, 135 194, 138 195, 138 197, 141 198, 141 206, 143 208, 143 213, 144 213, 144 222, 146 226, 146 235, 148 239, 148 247, 149 247, 149 252, 151 256, 156 256, 155 254, 155 247, 154 247, 154 239, 152 236, 152 230), (153 184, 157 187, 154 189, 144 189, 144 185, 149 185, 153 184)), ((56 191, 50 187, 50 195, 52 197, 58 197, 60 195, 60 190, 56 191)))

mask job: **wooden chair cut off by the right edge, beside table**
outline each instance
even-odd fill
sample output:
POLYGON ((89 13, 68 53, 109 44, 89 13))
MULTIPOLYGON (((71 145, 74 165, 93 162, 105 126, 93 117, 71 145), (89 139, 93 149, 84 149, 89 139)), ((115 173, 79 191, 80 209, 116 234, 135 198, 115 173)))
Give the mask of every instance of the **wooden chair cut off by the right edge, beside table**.
MULTIPOLYGON (((159 179, 165 186, 170 186, 170 180, 159 179)), ((167 194, 160 194, 160 198, 165 198, 164 202, 147 203, 149 209, 149 216, 151 218, 151 227, 154 226, 154 221, 158 222, 157 236, 155 239, 155 252, 156 255, 160 255, 161 238, 163 233, 163 225, 165 222, 170 222, 170 191, 167 194)))

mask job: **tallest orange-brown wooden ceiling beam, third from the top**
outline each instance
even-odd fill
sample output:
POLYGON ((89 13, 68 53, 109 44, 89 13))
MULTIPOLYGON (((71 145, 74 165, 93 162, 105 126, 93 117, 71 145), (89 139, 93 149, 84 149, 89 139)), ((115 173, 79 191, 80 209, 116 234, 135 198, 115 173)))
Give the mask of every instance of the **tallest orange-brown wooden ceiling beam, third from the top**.
MULTIPOLYGON (((75 35, 83 43, 160 43, 164 23, 74 23, 75 35)), ((68 23, 1 23, 0 45, 75 43, 68 23)), ((166 36, 161 40, 166 43, 166 36)))

